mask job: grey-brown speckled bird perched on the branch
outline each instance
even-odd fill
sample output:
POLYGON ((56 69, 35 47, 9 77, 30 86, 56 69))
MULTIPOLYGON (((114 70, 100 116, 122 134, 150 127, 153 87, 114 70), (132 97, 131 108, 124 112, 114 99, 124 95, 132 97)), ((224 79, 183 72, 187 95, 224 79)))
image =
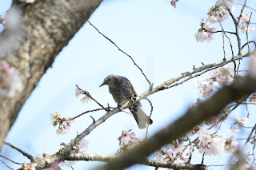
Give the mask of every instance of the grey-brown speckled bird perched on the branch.
MULTIPOLYGON (((109 86, 110 94, 112 94, 114 101, 118 104, 118 108, 127 101, 133 102, 129 109, 138 124, 138 128, 146 128, 146 125, 153 123, 152 119, 142 110, 141 102, 134 101, 134 97, 138 97, 138 94, 126 77, 111 74, 104 79, 102 85, 109 86)), ((102 87, 102 85, 99 87, 102 87)))

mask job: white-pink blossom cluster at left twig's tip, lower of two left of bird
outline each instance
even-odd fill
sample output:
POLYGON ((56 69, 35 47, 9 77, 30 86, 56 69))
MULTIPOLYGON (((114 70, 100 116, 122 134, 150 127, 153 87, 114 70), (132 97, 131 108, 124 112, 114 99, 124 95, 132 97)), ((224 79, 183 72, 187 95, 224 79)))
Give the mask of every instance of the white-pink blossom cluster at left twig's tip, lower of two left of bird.
POLYGON ((70 127, 74 124, 73 117, 62 117, 60 110, 56 109, 54 113, 50 114, 50 119, 53 121, 51 125, 58 126, 56 130, 58 135, 64 135, 70 131, 70 127), (72 120, 72 121, 71 121, 72 120))

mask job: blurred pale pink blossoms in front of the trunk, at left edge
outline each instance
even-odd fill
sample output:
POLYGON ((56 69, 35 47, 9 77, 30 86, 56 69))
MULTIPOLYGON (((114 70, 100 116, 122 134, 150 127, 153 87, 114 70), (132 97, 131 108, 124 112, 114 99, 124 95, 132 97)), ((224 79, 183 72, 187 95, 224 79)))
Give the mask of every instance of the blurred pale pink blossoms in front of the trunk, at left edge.
POLYGON ((0 70, 0 97, 12 98, 23 89, 22 79, 18 70, 7 62, 2 63, 0 70))

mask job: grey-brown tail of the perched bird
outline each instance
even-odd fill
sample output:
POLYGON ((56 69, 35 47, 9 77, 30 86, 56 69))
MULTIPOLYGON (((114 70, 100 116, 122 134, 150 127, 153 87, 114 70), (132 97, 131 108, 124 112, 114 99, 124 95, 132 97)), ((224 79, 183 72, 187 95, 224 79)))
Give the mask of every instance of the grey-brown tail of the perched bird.
POLYGON ((144 113, 142 108, 134 103, 132 107, 129 108, 130 112, 134 115, 134 119, 138 124, 138 128, 146 128, 146 125, 151 125, 153 123, 152 119, 144 113))

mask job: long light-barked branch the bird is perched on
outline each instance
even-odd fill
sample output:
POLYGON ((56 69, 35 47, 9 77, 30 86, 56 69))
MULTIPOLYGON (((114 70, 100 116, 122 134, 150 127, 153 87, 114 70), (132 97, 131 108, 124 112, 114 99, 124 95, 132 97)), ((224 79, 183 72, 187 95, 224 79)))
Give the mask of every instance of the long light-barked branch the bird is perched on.
MULTIPOLYGON (((162 83, 162 85, 158 85, 158 87, 155 87, 153 89, 149 89, 147 90, 145 93, 142 93, 142 95, 140 95, 139 97, 136 97, 136 100, 134 101, 141 101, 142 99, 145 99, 146 97, 150 96, 153 93, 157 93, 158 91, 164 90, 164 89, 169 89, 173 86, 175 86, 174 82, 176 81, 180 81, 182 78, 187 77, 185 80, 183 80, 182 82, 185 82, 187 80, 190 79, 190 77, 193 77, 192 74, 194 73, 198 73, 198 74, 202 74, 202 73, 206 73, 207 71, 209 71, 210 69, 214 69, 214 68, 218 68, 222 65, 226 65, 227 63, 234 61, 234 60, 238 60, 241 59, 242 57, 249 57, 250 55, 253 55, 256 51, 252 51, 250 53, 246 53, 245 55, 242 56, 236 56, 234 58, 230 58, 227 59, 226 61, 219 61, 210 65, 203 65, 202 67, 198 68, 198 69, 192 69, 191 71, 188 71, 186 73, 181 73, 176 77, 173 77, 172 79, 165 81, 164 83, 162 83)), ((198 74, 195 74, 195 76, 198 76, 198 74)), ((178 82, 179 83, 179 82, 178 82)), ((249 86, 246 88, 249 88, 249 86)), ((245 89, 246 89, 245 88, 245 89)), ((235 95, 238 95, 239 93, 234 93, 235 95)), ((234 96, 235 97, 235 96, 234 96)), ((222 98, 223 100, 223 98, 222 98)), ((220 99, 218 99, 217 101, 220 101, 220 99)), ((127 101, 125 104, 123 104, 120 109, 126 109, 131 103, 129 101, 127 101)), ((225 102, 220 102, 220 105, 225 104, 225 102)), ((42 160, 36 160, 36 163, 38 163, 38 167, 41 168, 46 168, 46 166, 50 163, 53 162, 58 162, 58 161, 62 161, 63 159, 65 160, 65 156, 70 154, 70 152, 72 152, 72 148, 74 147, 75 144, 78 144, 78 142, 80 140, 82 140, 82 138, 84 138, 85 136, 89 135, 90 132, 92 132, 94 130, 94 128, 97 128, 98 125, 101 125, 103 122, 105 122, 109 117, 113 116, 115 113, 120 112, 119 108, 115 108, 113 110, 108 111, 105 115, 103 115, 101 118, 99 118, 97 121, 95 121, 93 124, 91 124, 88 128, 86 128, 82 133, 78 134, 78 136, 76 136, 74 138, 74 140, 71 140, 69 144, 66 144, 66 146, 64 148, 62 148, 59 152, 57 152, 56 154, 54 154, 54 156, 50 156, 47 157, 46 159, 42 159, 42 160)), ((213 110, 215 110, 217 108, 214 108, 213 110)), ((198 116, 195 116, 198 117, 198 116)), ((204 116, 204 118, 206 119, 206 115, 204 116)), ((192 122, 195 122, 195 124, 198 123, 198 121, 200 121, 200 119, 192 119, 191 117, 187 118, 188 120, 192 122)), ((179 122, 181 123, 181 122, 179 122)), ((185 125, 186 125, 186 121, 184 121, 185 125)), ((175 123, 174 123, 175 124, 175 123)), ((180 125, 176 125, 176 127, 180 127, 182 124, 180 125)), ((193 127, 191 127, 193 128, 193 127)), ((176 130, 176 129, 175 129, 176 130)), ((164 131, 164 130, 163 130, 164 131)), ((179 132, 177 131, 177 133, 175 133, 175 135, 179 134, 179 132)), ((176 137, 176 136, 172 136, 172 137, 176 137)), ((161 138, 161 137, 160 137, 161 138)), ((159 139, 160 139, 159 138, 159 139)), ((164 141, 164 139, 162 140, 162 142, 164 141)), ((167 142, 167 140, 166 140, 167 142)), ((146 149, 147 150, 147 149, 146 149)), ((149 150, 150 151, 150 150, 149 150)), ((135 154, 136 155, 136 154, 135 154)))

